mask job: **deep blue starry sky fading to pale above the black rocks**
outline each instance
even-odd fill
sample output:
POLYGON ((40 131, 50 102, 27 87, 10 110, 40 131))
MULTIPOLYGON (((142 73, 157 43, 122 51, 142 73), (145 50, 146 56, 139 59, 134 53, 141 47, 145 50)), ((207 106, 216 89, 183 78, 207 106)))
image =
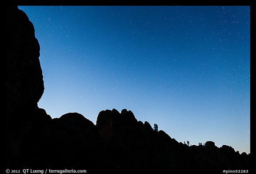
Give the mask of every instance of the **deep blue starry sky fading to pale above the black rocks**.
POLYGON ((249 6, 19 6, 52 118, 131 110, 178 142, 250 153, 249 6))

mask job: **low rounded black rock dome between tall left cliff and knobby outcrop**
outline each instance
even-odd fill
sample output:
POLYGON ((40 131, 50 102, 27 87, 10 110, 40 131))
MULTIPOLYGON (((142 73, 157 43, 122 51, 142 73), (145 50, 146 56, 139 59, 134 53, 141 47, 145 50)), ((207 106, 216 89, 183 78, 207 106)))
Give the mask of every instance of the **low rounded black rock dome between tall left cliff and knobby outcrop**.
POLYGON ((35 127, 20 143, 20 158, 27 167, 90 169, 112 165, 98 129, 79 113, 67 113, 35 127))

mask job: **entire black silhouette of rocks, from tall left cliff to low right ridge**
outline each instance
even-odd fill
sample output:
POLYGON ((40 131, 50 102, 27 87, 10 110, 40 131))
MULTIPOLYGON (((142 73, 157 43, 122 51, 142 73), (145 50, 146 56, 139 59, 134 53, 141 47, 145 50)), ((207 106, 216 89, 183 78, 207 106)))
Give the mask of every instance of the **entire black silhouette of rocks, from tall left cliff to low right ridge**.
POLYGON ((96 125, 79 113, 52 119, 37 102, 44 92, 40 45, 18 7, 6 7, 6 168, 250 167, 232 147, 190 146, 136 120, 132 111, 101 111, 96 125))

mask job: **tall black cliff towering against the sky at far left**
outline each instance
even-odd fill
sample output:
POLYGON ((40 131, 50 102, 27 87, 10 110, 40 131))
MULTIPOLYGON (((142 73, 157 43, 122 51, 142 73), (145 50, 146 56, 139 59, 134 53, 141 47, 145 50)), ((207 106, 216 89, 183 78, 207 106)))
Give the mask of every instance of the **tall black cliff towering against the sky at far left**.
POLYGON ((32 127, 46 123, 51 117, 37 107, 44 92, 44 81, 33 24, 17 7, 5 9, 6 161, 16 166, 21 139, 32 127))

